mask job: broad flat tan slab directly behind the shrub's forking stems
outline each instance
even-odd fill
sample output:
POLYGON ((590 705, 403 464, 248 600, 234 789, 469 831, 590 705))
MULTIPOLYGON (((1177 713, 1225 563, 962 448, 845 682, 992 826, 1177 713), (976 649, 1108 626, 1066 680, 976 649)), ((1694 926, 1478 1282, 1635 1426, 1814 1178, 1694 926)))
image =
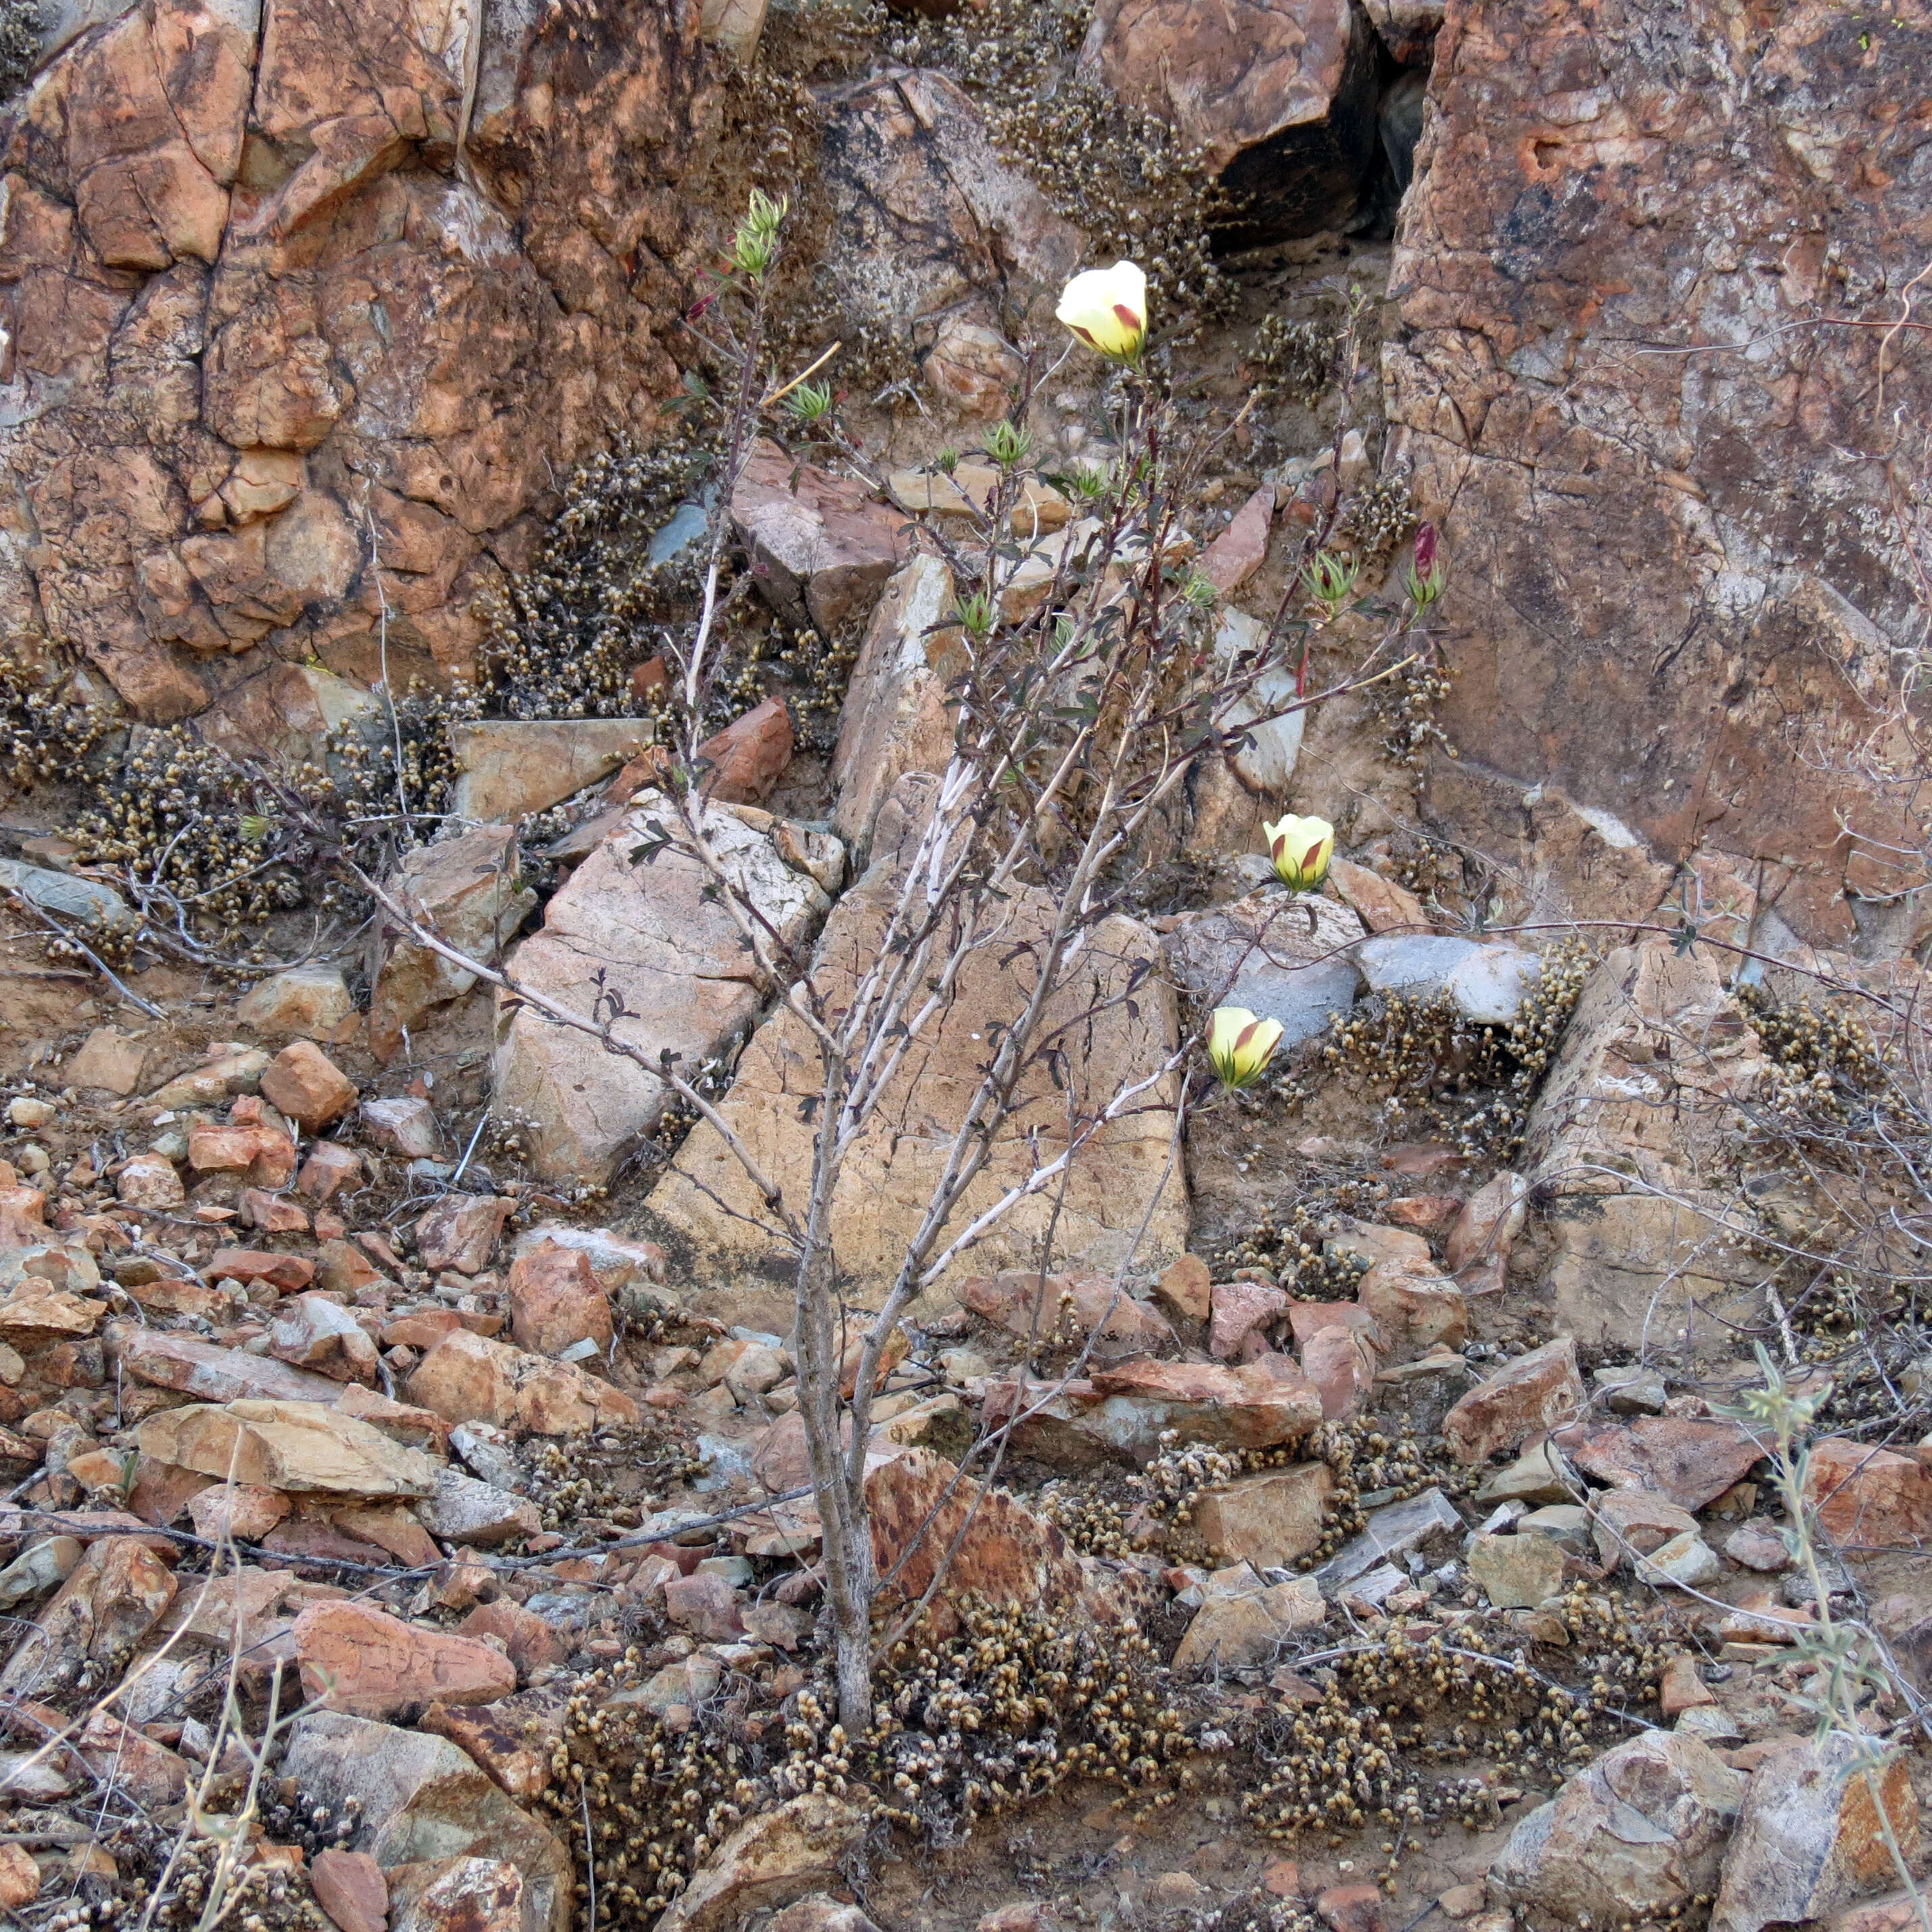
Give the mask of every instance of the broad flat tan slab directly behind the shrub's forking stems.
MULTIPOLYGON (((811 972, 833 1009, 873 960, 931 790, 931 779, 908 775, 900 781, 879 815, 871 867, 827 922, 811 972)), ((966 960, 952 1003, 910 1045, 869 1128, 846 1155, 831 1209, 846 1293, 875 1293, 896 1275, 978 1086, 989 1028, 1009 1024, 1026 997, 1026 941, 1045 929, 1049 908, 1039 889, 1020 887, 1010 895, 997 939, 966 960)), ((1078 985, 1068 987, 1055 1010, 1070 1016, 1094 987, 1103 1009, 1094 1024, 1065 1036, 1065 1086, 1045 1074, 1026 1076, 987 1167, 954 1211, 954 1231, 1024 1180, 1043 1150, 1053 1148, 1065 1132, 1068 1086, 1086 1105, 1097 1107, 1119 1086, 1150 1076, 1173 1051, 1173 997, 1159 980, 1142 980, 1130 1003, 1119 999, 1153 956, 1153 935, 1136 920, 1111 918, 1090 935, 1078 985)), ((806 1101, 819 1086, 817 1049, 802 1024, 781 1009, 752 1037, 719 1109, 759 1169, 792 1202, 802 1202, 810 1184, 817 1130, 806 1101)), ((1095 1134, 1074 1161, 1065 1190, 1043 1188, 993 1225, 972 1250, 974 1271, 1037 1267, 1039 1240, 1049 1227, 1057 1267, 1080 1264, 1113 1271, 1126 1260, 1144 1217, 1138 1264, 1159 1267, 1180 1254, 1186 1200, 1180 1180, 1169 1173, 1175 1097, 1163 1080, 1130 1117, 1095 1134)), ((659 1229, 701 1258, 701 1275, 759 1277, 784 1267, 786 1250, 759 1225, 763 1198, 709 1122, 692 1128, 674 1169, 653 1190, 649 1213, 659 1229)))

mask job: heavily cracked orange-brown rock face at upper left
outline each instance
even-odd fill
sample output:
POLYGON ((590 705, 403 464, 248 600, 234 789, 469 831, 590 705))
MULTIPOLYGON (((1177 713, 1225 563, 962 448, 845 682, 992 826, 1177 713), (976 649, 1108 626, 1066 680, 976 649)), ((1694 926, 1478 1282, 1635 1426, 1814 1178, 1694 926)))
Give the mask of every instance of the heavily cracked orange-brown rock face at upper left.
POLYGON ((672 10, 618 12, 593 50, 477 0, 143 0, 52 58, 0 116, 10 634, 149 721, 272 657, 373 682, 384 601, 392 678, 469 663, 520 520, 676 381, 707 97, 672 10))

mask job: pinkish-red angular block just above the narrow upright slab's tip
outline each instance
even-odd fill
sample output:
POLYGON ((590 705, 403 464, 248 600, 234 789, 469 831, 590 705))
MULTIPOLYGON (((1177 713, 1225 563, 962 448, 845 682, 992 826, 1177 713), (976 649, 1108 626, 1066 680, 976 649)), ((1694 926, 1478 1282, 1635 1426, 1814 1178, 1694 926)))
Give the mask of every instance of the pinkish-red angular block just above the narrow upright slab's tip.
POLYGON ((864 622, 904 553, 904 514, 864 485, 800 464, 775 442, 752 446, 730 502, 765 601, 790 624, 831 638, 864 622))

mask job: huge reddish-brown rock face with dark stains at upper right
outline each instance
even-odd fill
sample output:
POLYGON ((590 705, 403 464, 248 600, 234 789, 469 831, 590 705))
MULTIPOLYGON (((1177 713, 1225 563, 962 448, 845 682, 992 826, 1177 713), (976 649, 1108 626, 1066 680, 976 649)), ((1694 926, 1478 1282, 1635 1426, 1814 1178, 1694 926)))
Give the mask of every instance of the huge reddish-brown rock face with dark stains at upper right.
POLYGON ((1920 591, 1866 452, 1880 371, 1888 421, 1932 413, 1868 327, 1924 265, 1893 114, 1924 43, 1832 0, 1735 19, 1449 10, 1383 375, 1447 620, 1480 630, 1441 709, 1457 837, 1513 856, 1559 786, 1660 858, 1781 869, 1818 945, 1847 889, 1922 877, 1884 753, 1920 591))

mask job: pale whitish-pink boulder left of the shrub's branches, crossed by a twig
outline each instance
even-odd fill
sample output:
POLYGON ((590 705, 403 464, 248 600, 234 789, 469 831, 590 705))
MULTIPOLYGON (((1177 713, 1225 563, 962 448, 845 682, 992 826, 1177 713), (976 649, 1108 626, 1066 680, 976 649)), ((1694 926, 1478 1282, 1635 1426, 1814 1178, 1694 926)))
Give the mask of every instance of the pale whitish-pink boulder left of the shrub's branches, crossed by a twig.
MULTIPOLYGON (((572 1012, 611 1018, 626 1045, 682 1068, 723 1053, 763 1003, 738 922, 703 864, 672 846, 634 858, 651 825, 676 823, 661 792, 634 800, 622 823, 549 902, 543 927, 510 960, 510 976, 572 1012), (601 1003, 601 1005, 599 1005, 601 1003)), ((811 939, 829 900, 773 842, 773 819, 750 806, 703 808, 719 864, 784 945, 811 939)), ((497 1018, 497 1107, 531 1122, 529 1153, 553 1177, 605 1179, 665 1111, 670 1088, 589 1034, 506 995, 497 1018)))

